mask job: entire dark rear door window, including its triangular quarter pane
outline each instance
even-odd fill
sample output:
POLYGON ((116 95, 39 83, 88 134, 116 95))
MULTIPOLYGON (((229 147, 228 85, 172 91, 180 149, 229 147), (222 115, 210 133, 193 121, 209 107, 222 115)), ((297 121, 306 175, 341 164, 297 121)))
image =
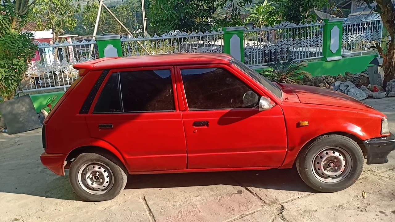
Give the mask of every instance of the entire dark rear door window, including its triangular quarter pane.
POLYGON ((171 71, 144 70, 112 73, 94 113, 174 110, 171 71))

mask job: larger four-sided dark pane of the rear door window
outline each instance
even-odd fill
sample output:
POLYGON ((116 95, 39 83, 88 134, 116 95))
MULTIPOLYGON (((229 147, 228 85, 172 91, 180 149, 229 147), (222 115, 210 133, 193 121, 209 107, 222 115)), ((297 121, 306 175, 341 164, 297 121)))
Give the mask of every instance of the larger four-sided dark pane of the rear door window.
POLYGON ((120 72, 124 112, 175 110, 170 70, 120 72))

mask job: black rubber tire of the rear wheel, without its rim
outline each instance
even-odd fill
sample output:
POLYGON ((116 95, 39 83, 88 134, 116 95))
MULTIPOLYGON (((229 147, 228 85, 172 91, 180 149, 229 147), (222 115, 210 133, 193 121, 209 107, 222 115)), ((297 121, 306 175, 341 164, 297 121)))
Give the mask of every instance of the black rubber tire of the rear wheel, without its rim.
MULTIPOLYGON (((119 160, 112 156, 104 157, 96 153, 80 154, 73 162, 71 162, 69 171, 71 187, 79 197, 86 201, 106 201, 113 199, 122 192, 128 179, 125 171, 120 166, 122 165, 119 163, 119 160), (110 188, 103 188, 103 190, 106 189, 103 194, 92 194, 86 191, 85 189, 87 188, 84 188, 79 182, 79 178, 81 176, 79 175, 79 171, 82 170, 82 167, 91 162, 96 162, 96 164, 102 164, 103 166, 107 167, 109 169, 109 172, 107 173, 111 173, 112 175, 110 177, 113 180, 110 182, 112 186, 110 188)), ((104 170, 104 172, 106 171, 104 170)))

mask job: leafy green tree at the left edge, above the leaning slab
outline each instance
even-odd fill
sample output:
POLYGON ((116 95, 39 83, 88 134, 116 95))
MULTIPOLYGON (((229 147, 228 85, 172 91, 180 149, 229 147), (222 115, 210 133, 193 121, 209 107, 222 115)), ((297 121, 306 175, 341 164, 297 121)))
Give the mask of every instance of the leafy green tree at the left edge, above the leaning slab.
POLYGON ((37 49, 30 40, 32 34, 21 33, 35 2, 3 0, 0 5, 0 97, 4 101, 14 97, 37 49))

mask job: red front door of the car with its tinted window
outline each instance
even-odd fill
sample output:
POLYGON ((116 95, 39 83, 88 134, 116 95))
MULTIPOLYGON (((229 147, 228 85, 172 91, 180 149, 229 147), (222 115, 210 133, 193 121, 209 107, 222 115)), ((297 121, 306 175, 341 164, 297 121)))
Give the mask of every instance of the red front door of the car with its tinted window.
MULTIPOLYGON (((179 66, 188 169, 280 166, 287 137, 282 109, 259 111, 245 93, 264 95, 232 65, 179 66)), ((257 101, 258 102, 258 101, 257 101)), ((257 105, 257 104, 256 104, 257 105)))

